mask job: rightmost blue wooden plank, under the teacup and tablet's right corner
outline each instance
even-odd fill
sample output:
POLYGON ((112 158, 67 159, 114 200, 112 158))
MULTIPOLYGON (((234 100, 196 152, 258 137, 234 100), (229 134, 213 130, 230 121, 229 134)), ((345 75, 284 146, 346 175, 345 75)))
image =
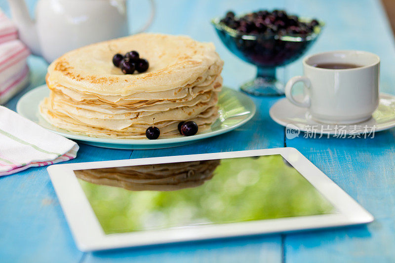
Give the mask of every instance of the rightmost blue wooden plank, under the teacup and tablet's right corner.
MULTIPOLYGON (((301 7, 293 6, 296 11, 301 7)), ((379 1, 312 3, 309 11, 327 21, 312 52, 360 49, 381 57, 381 91, 395 92, 395 46, 379 1), (339 30, 342 28, 342 30, 339 30)), ((291 75, 300 74, 293 65, 291 75)), ((346 190, 375 217, 368 226, 290 234, 285 237, 286 262, 394 262, 395 261, 395 130, 374 139, 286 140, 346 190)))

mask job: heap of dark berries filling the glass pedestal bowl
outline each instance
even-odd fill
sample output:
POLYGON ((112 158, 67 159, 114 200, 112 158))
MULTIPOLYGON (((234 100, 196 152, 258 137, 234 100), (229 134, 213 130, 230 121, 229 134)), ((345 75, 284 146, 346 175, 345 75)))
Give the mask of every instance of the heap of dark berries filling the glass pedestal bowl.
POLYGON ((314 28, 319 25, 316 19, 310 22, 299 21, 296 15, 288 15, 284 10, 260 10, 248 13, 242 17, 236 17, 233 11, 226 13, 221 23, 237 30, 242 34, 260 35, 306 35, 314 32, 314 28))

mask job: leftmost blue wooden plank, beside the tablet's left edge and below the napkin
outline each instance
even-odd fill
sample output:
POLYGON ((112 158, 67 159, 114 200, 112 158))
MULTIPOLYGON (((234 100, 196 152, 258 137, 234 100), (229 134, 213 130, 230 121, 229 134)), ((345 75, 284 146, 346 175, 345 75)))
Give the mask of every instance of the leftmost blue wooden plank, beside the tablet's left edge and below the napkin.
MULTIPOLYGON (((47 64, 28 59, 30 85, 5 106, 15 110, 18 99, 44 83, 47 64)), ((69 162, 127 159, 131 150, 100 149, 79 144, 69 162)), ((0 259, 3 262, 79 262, 75 246, 46 167, 0 177, 0 259), (23 251, 23 253, 21 253, 23 251)))

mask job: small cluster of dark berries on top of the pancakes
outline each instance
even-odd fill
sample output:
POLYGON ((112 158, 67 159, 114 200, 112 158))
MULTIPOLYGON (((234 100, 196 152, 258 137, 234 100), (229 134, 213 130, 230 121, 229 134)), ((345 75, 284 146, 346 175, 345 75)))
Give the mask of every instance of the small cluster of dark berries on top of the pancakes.
POLYGON ((125 55, 115 54, 113 57, 114 66, 120 68, 123 74, 133 74, 134 71, 139 73, 146 72, 149 64, 146 59, 140 58, 137 51, 127 52, 125 55))

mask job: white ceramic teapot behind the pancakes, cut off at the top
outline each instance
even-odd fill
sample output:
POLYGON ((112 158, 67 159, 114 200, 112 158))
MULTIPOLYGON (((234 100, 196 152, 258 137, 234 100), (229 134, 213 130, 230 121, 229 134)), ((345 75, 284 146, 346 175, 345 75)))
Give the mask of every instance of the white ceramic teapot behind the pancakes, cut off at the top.
MULTIPOLYGON (((154 17, 143 27, 147 29, 154 17)), ((25 0, 8 0, 19 37, 33 54, 51 62, 69 50, 127 36, 126 0, 39 0, 33 21, 25 0)))

